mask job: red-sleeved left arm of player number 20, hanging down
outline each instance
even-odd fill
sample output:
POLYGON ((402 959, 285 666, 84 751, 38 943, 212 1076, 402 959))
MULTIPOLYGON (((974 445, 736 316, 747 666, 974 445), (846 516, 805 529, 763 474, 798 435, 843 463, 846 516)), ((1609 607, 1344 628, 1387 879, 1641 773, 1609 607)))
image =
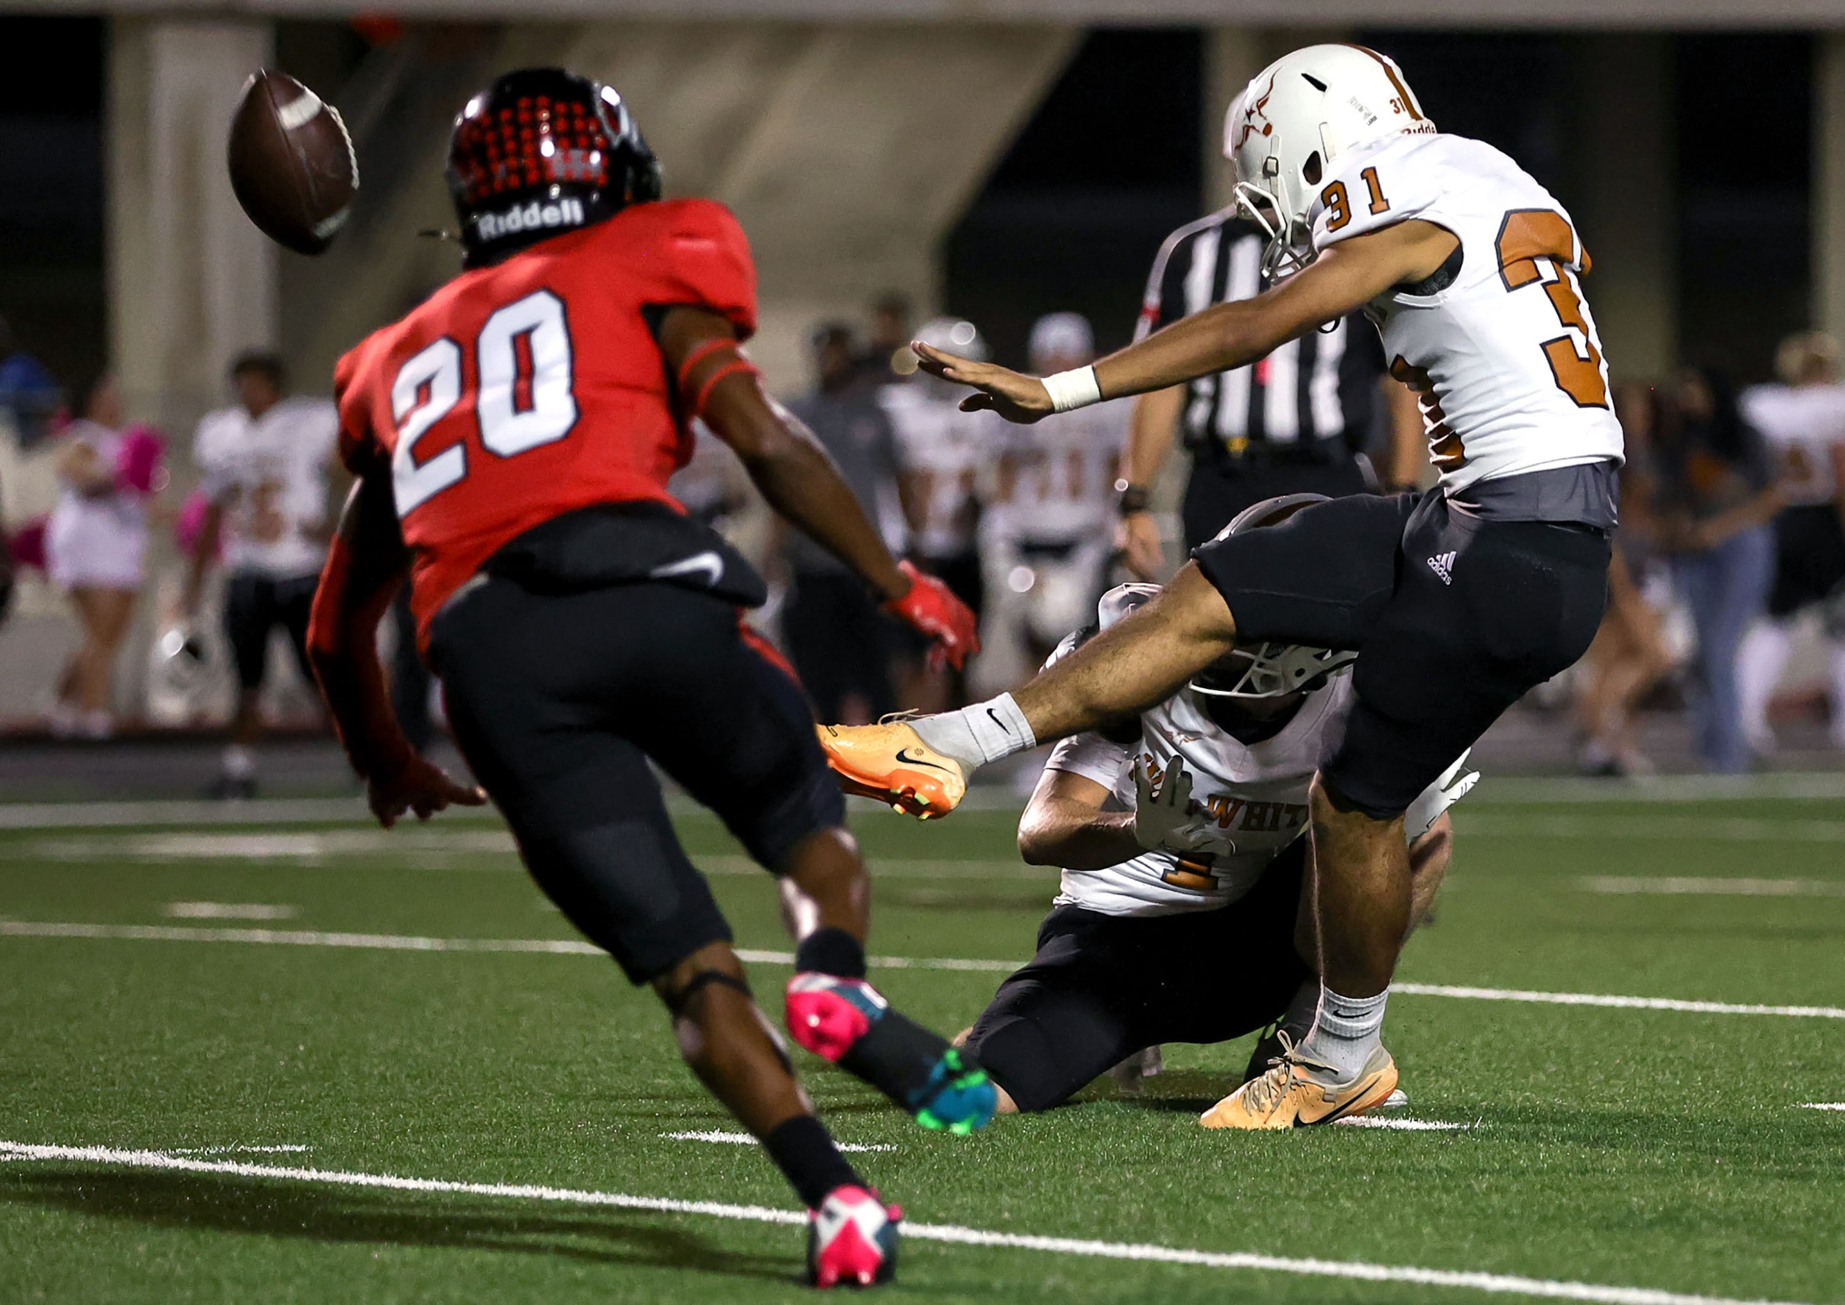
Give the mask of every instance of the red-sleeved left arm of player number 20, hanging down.
POLYGON ((362 476, 339 514, 339 533, 314 592, 308 660, 339 743, 365 780, 371 811, 387 829, 406 811, 428 820, 452 802, 470 807, 487 802, 480 789, 456 783, 417 756, 391 711, 378 662, 378 621, 408 568, 391 483, 382 472, 362 476))

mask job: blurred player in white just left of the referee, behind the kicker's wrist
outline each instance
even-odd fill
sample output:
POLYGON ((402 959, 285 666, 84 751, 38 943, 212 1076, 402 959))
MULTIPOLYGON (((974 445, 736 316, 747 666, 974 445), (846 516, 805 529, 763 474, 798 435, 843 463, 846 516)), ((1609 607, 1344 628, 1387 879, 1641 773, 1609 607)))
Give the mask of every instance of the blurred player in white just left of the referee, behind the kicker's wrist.
MULTIPOLYGON (((1039 317, 1030 358, 1037 372, 1092 363, 1096 335, 1089 319, 1039 317)), ((980 531, 987 594, 983 684, 1018 684, 1094 610, 1114 551, 1114 472, 1125 431, 1125 404, 1096 404, 1007 428, 980 531)))

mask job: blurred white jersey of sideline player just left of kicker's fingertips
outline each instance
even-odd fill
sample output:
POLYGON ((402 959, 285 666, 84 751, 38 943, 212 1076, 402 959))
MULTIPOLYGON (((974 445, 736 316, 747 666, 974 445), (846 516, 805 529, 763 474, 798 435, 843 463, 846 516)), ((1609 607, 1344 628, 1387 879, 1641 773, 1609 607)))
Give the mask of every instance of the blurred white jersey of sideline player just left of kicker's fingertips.
POLYGON ((991 450, 1004 439, 1002 418, 963 413, 958 396, 932 394, 921 380, 882 387, 878 404, 897 435, 897 461, 921 498, 922 522, 911 547, 924 557, 970 553, 980 485, 991 450))

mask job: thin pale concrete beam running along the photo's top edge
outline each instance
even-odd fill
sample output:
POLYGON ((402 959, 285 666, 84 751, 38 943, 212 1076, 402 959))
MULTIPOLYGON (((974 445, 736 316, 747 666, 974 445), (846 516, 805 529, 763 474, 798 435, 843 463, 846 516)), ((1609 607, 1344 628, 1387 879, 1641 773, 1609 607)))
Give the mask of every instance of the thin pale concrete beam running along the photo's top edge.
MULTIPOLYGON (((369 0, 4 0, 37 13, 208 13, 290 18, 376 13, 369 0)), ((1367 28, 1791 28, 1845 29, 1838 0, 397 0, 400 18, 541 20, 780 20, 1048 24, 1362 24, 1367 28)))

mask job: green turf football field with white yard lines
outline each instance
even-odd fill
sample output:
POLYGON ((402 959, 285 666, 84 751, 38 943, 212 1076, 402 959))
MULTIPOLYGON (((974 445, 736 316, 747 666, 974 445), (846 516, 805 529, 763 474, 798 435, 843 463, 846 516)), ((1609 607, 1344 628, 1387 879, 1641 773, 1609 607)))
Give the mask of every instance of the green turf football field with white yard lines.
MULTIPOLYGON (((804 1056, 836 1135, 935 1229, 891 1296, 1845 1301, 1845 1111, 1804 1108, 1845 1102, 1845 802, 1494 787, 1517 789, 1461 809, 1402 981, 1819 1010, 1406 992, 1406 1115, 1448 1130, 1207 1134, 1232 1045, 1168 1047, 1140 1099, 1092 1088, 954 1139, 804 1056)), ((1030 953, 1055 879, 1017 863, 1006 813, 854 824, 875 953, 1030 953)), ((768 877, 708 818, 683 829, 740 946, 786 951, 768 877)), ((803 1298, 801 1231, 771 1213, 613 1200, 793 1209, 755 1146, 668 1137, 734 1126, 651 995, 570 947, 439 949, 570 938, 485 820, 0 833, 0 1301, 803 1298)), ((755 973, 779 1012, 786 966, 755 973)), ((873 977, 952 1030, 1000 975, 873 977)))

